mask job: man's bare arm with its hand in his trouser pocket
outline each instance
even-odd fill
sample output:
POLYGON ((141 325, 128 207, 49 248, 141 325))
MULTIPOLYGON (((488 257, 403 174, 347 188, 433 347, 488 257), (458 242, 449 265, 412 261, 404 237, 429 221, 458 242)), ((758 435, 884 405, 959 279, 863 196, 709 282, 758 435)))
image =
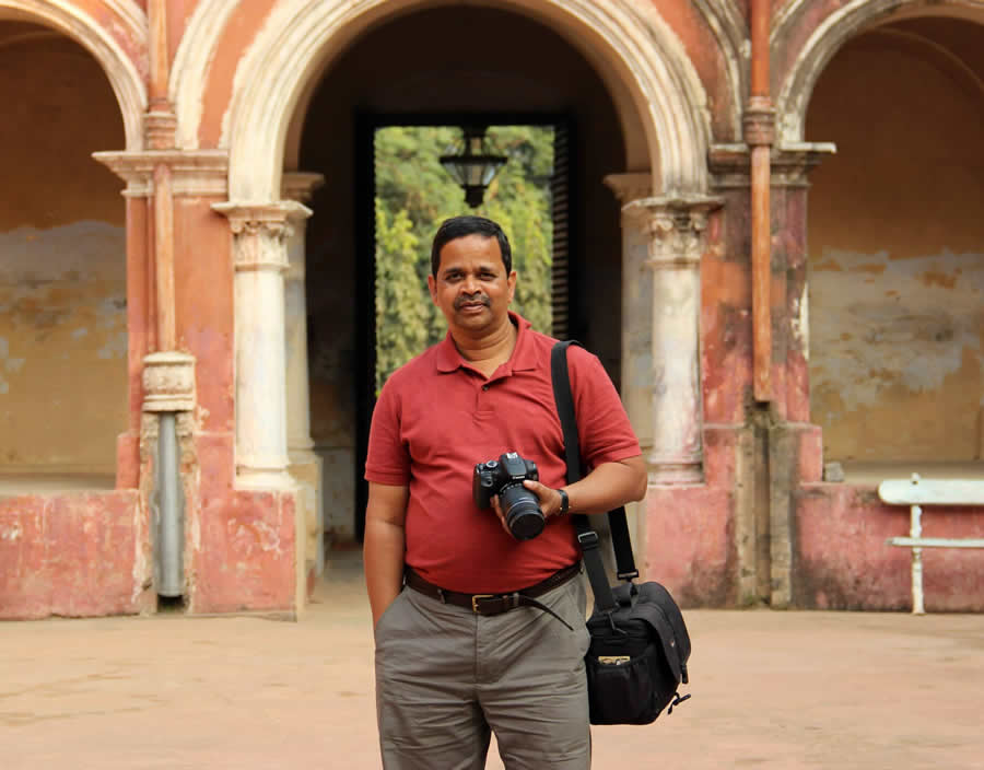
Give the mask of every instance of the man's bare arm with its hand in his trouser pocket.
POLYGON ((407 537, 409 487, 393 487, 370 481, 368 505, 365 510, 365 586, 373 610, 373 627, 400 593, 403 583, 403 551, 407 537))

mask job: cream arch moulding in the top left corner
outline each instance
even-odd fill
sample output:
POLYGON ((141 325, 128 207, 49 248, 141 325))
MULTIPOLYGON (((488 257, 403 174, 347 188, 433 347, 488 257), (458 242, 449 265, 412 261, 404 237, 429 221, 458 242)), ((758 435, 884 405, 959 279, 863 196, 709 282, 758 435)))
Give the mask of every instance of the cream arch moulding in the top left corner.
MULTIPOLYGON (((126 36, 138 50, 147 49, 147 16, 134 3, 106 0, 126 36)), ((0 18, 44 24, 75 40, 99 63, 122 114, 127 150, 143 148, 147 86, 119 42, 83 10, 51 0, 0 0, 0 18)))

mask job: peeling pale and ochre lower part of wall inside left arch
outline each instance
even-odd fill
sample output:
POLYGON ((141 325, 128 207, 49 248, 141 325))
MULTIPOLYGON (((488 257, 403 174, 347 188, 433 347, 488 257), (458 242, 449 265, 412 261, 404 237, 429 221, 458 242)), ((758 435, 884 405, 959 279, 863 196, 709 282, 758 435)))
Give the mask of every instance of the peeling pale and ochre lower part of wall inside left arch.
POLYGON ((127 422, 126 234, 0 233, 0 467, 113 472, 127 422))

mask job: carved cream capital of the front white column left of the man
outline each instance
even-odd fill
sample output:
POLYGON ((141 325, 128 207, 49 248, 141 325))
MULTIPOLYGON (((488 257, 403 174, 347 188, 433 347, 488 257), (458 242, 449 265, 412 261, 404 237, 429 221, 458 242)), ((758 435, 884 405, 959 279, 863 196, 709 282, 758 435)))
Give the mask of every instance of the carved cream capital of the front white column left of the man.
POLYGON ((286 241, 293 233, 293 223, 312 213, 295 200, 227 201, 212 203, 212 210, 229 219, 235 236, 236 270, 285 270, 289 266, 286 241))

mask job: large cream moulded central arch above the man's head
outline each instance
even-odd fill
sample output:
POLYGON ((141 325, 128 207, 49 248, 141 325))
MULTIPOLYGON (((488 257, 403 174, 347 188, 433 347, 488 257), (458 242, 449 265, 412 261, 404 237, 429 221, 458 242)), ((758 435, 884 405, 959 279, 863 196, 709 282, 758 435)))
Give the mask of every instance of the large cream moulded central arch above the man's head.
MULTIPOLYGON (((628 88, 643 125, 654 192, 706 190, 711 136, 706 97, 683 46, 655 9, 628 0, 503 0, 496 4, 559 26, 596 66, 605 59, 608 71, 599 74, 628 88), (597 55, 599 49, 605 57, 597 55)), ((289 125, 326 58, 340 51, 343 36, 351 40, 383 18, 432 5, 426 0, 280 3, 236 70, 235 95, 223 120, 222 144, 230 148, 230 198, 279 198, 289 125)))

